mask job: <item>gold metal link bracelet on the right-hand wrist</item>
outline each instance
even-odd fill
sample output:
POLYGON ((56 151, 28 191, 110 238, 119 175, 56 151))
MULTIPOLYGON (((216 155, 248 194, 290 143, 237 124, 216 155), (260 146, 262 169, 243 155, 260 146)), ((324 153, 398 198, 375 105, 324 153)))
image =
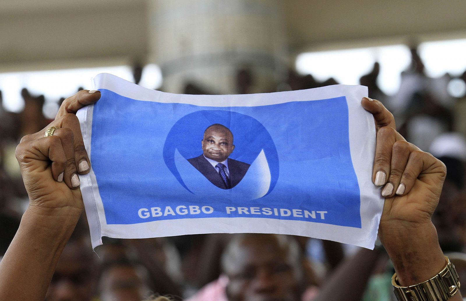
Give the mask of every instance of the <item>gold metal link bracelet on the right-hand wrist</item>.
POLYGON ((391 277, 398 301, 447 301, 459 291, 459 277, 455 266, 445 256, 446 265, 431 279, 419 284, 402 287, 397 280, 397 274, 391 277))

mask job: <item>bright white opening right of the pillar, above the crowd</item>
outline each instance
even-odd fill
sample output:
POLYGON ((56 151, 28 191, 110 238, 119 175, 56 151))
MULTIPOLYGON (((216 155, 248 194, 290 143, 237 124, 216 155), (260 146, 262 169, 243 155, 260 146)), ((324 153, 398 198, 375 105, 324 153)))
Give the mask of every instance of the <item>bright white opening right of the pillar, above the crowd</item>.
MULTIPOLYGON (((447 72, 458 76, 466 70, 466 39, 425 42, 418 51, 428 76, 439 77, 447 72)), ((320 81, 333 77, 342 84, 356 85, 362 75, 370 72, 374 62, 380 63, 377 79, 380 89, 394 95, 400 86, 401 72, 411 62, 406 45, 302 53, 296 59, 296 69, 320 81)), ((459 83, 452 86, 455 96, 461 94, 459 86, 459 83)))

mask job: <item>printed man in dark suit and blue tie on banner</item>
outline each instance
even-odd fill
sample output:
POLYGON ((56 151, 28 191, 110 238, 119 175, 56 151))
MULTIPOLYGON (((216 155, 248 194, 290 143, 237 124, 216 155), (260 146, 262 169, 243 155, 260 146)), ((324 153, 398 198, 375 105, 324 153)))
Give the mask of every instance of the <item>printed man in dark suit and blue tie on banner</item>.
POLYGON ((221 189, 240 183, 250 164, 228 158, 234 149, 232 132, 224 125, 212 124, 204 131, 201 144, 203 154, 188 162, 221 189))

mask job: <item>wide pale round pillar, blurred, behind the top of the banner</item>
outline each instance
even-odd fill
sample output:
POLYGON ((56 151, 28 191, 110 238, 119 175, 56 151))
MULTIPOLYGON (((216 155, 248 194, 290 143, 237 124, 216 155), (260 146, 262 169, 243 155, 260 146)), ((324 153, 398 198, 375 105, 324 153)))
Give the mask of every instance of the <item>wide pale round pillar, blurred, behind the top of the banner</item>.
POLYGON ((234 94, 236 73, 250 68, 254 90, 270 92, 285 74, 287 41, 280 0, 150 0, 150 59, 163 89, 196 82, 234 94))

